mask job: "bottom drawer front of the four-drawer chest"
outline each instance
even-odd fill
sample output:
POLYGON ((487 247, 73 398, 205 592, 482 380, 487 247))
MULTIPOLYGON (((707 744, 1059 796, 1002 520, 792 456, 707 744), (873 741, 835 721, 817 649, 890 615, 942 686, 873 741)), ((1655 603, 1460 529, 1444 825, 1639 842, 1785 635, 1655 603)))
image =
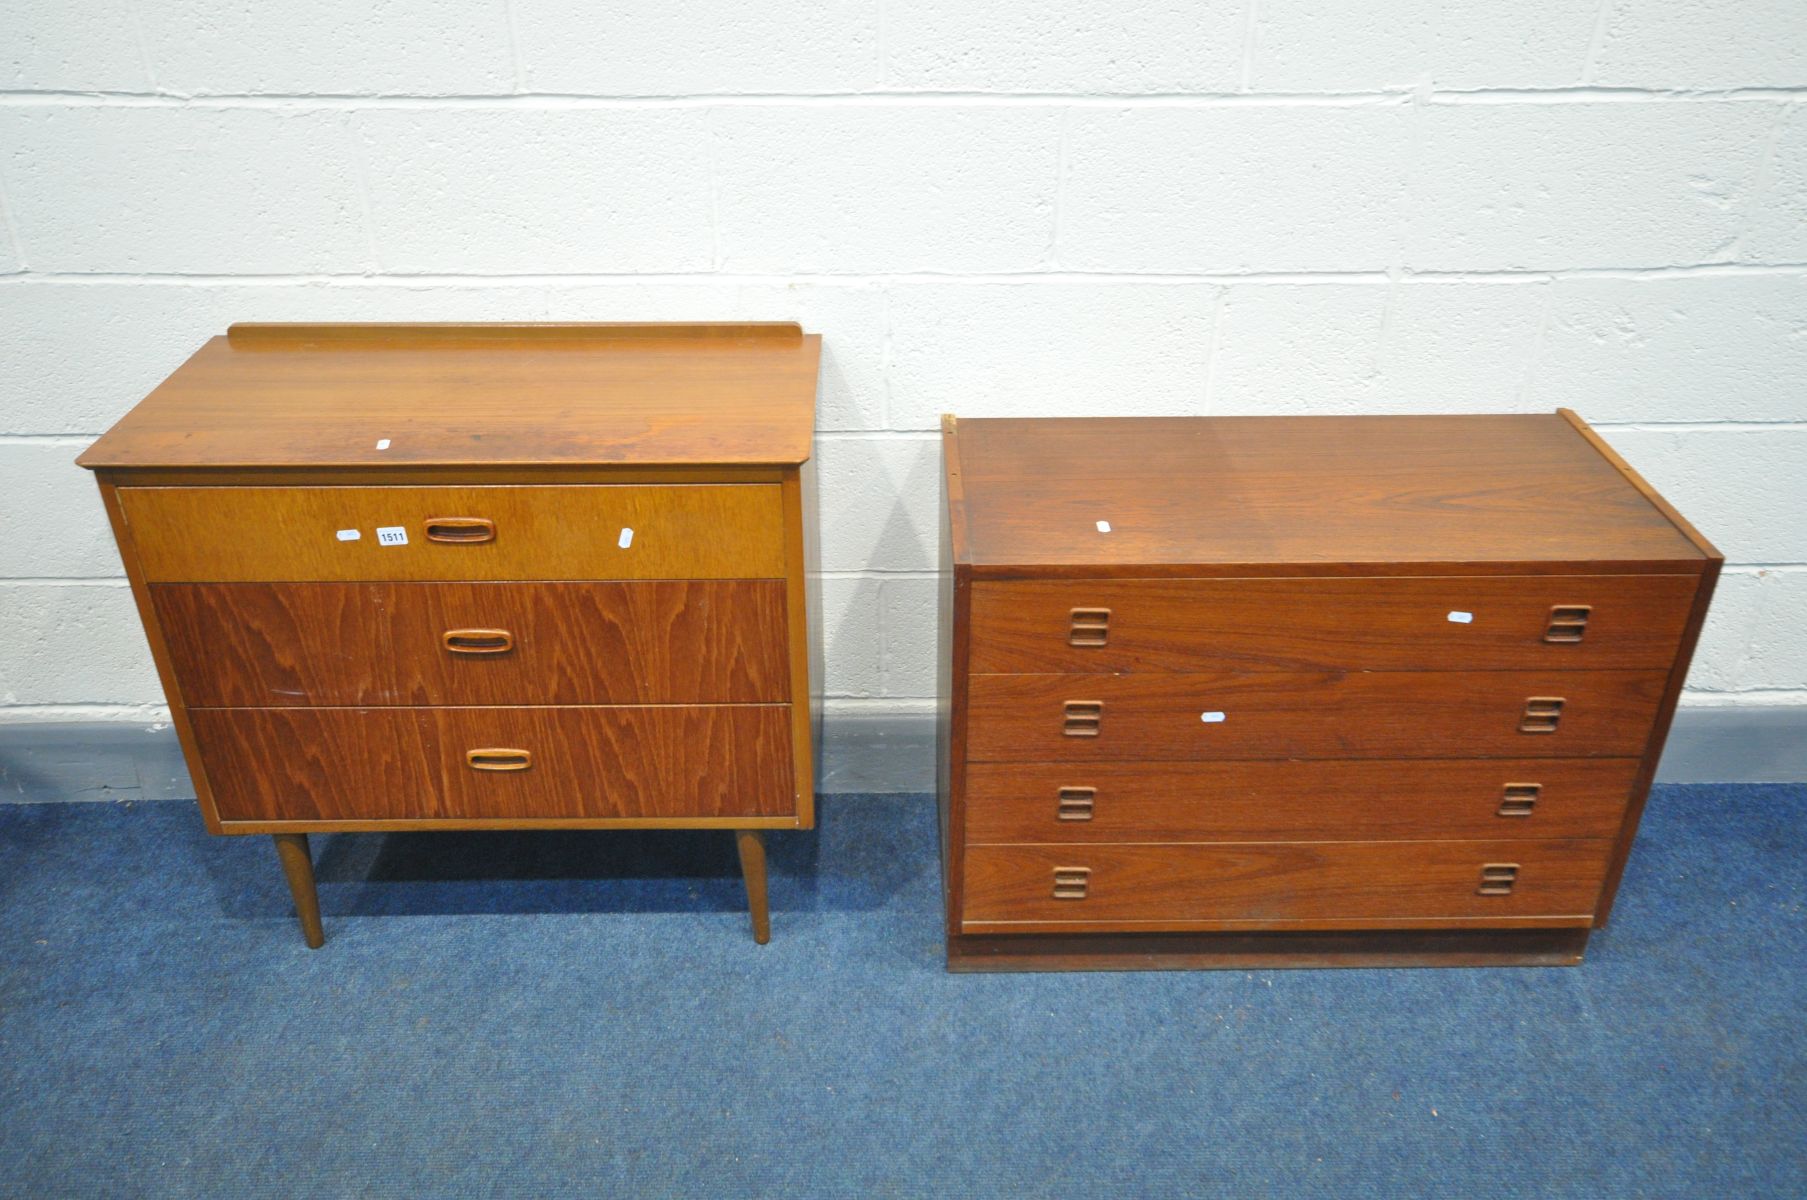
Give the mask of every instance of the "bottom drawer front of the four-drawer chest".
POLYGON ((1606 840, 970 846, 963 927, 1585 923, 1610 849, 1606 840))

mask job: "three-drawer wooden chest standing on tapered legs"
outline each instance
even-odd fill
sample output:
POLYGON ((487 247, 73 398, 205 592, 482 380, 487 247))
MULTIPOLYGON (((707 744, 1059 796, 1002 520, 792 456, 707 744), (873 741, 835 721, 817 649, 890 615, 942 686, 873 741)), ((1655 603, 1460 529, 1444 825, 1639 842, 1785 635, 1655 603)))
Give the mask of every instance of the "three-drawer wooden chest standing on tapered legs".
POLYGON ((98 473, 213 833, 815 820, 797 325, 233 325, 98 473))

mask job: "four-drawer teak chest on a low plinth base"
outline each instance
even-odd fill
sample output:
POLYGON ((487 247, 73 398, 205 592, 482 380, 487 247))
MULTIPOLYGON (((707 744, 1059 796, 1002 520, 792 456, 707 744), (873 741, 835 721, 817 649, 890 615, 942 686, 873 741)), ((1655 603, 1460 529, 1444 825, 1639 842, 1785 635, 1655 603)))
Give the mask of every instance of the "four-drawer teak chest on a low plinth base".
POLYGON ((950 969, 1581 960, 1720 557, 1574 414, 941 437, 950 969))

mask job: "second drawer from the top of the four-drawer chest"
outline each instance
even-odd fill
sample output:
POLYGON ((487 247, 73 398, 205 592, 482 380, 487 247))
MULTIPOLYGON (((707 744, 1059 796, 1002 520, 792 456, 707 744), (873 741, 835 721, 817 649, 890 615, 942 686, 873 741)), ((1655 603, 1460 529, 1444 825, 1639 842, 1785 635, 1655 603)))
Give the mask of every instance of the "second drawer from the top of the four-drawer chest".
POLYGON ((1637 757, 1666 678, 1661 670, 972 676, 967 757, 1637 757), (1550 712, 1550 701, 1559 708, 1550 712))

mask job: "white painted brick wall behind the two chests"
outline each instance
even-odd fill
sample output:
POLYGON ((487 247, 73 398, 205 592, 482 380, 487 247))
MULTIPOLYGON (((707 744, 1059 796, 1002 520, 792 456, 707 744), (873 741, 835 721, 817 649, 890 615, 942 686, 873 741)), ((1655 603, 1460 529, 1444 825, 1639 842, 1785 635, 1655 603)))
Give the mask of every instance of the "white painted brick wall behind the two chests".
POLYGON ((1578 408, 1807 701, 1798 0, 0 5, 0 719, 161 696, 87 441, 233 320, 802 320, 829 703, 934 694, 938 416, 1578 408))

